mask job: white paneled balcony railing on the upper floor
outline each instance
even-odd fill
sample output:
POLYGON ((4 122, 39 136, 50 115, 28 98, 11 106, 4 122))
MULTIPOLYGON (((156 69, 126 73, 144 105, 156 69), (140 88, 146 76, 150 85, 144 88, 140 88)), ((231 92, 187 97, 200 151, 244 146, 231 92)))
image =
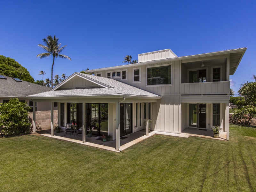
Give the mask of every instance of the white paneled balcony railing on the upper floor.
POLYGON ((181 94, 229 94, 230 81, 183 83, 180 84, 181 94))

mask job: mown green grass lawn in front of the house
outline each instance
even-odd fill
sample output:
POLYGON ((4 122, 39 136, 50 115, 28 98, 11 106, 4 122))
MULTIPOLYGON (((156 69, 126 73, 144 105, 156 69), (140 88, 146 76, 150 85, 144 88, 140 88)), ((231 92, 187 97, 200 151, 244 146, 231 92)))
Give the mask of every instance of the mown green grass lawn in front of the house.
POLYGON ((256 129, 155 135, 121 153, 44 136, 0 139, 1 191, 256 191, 256 129))

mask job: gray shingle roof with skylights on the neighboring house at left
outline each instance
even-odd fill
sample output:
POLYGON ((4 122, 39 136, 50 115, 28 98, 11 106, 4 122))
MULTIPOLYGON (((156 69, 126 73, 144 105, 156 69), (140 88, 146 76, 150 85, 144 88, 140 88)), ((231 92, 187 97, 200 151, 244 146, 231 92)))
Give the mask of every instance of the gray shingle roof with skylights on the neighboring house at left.
POLYGON ((27 81, 17 82, 12 77, 4 76, 0 79, 0 97, 26 97, 31 94, 50 91, 50 87, 28 83, 27 81), (29 84, 29 86, 28 86, 29 84))

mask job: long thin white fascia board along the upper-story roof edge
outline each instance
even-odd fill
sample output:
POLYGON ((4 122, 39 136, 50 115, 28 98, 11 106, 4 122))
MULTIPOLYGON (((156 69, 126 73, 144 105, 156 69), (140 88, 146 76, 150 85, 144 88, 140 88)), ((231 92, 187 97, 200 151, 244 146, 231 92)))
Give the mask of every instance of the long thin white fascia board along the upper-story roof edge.
MULTIPOLYGON (((236 53, 241 51, 246 51, 247 48, 238 48, 238 49, 231 49, 226 51, 219 51, 219 52, 210 52, 210 53, 203 53, 203 54, 197 54, 197 55, 189 55, 189 56, 182 56, 182 57, 176 57, 176 58, 170 58, 170 59, 163 59, 163 60, 155 60, 155 61, 146 61, 146 62, 140 62, 140 63, 134 63, 134 64, 126 64, 126 65, 119 65, 115 67, 107 67, 107 68, 99 68, 99 69, 92 69, 88 70, 86 72, 93 73, 96 71, 102 71, 102 70, 110 70, 110 69, 116 69, 116 68, 126 68, 126 67, 134 67, 134 66, 140 66, 140 65, 147 65, 151 63, 156 63, 159 61, 168 62, 168 61, 176 61, 176 60, 184 60, 184 59, 194 59, 199 57, 209 57, 209 56, 215 56, 215 55, 221 55, 221 54, 228 54, 228 53, 236 53)), ((243 54, 244 55, 244 54, 243 54)), ((242 57, 241 57, 242 58, 242 57)), ((241 60, 241 59, 240 59, 241 60)))

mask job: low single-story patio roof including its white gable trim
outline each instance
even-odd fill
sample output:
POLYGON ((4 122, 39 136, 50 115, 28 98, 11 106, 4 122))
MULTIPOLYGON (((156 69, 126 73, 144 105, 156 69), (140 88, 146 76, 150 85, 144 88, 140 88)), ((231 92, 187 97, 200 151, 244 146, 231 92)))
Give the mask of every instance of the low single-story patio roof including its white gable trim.
POLYGON ((123 82, 108 79, 105 77, 88 75, 84 73, 75 72, 69 76, 65 81, 61 82, 54 89, 49 92, 42 92, 34 95, 29 95, 29 98, 52 98, 52 97, 95 97, 95 96, 128 96, 128 97, 147 97, 147 98, 161 98, 161 96, 154 93, 142 90, 132 85, 123 82), (79 87, 79 88, 65 88, 61 86, 68 82, 75 76, 79 76, 88 81, 91 81, 100 86, 97 87, 79 87))

